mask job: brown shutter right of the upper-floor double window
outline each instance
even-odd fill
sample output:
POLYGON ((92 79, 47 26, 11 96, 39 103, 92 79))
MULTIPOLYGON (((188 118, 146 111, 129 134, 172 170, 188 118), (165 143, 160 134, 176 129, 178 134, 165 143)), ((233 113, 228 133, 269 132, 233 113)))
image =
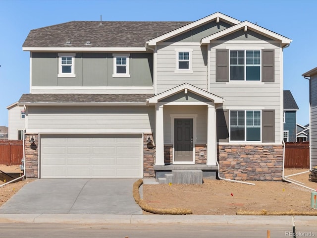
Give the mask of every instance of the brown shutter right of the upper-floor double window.
POLYGON ((274 50, 262 50, 262 82, 274 81, 274 50))

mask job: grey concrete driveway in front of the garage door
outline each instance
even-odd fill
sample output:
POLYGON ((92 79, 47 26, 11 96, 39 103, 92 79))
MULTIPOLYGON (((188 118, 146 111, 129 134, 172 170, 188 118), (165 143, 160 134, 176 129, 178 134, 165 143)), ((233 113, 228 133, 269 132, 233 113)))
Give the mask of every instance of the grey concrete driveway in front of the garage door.
POLYGON ((142 214, 137 179, 38 179, 0 207, 2 214, 142 214))

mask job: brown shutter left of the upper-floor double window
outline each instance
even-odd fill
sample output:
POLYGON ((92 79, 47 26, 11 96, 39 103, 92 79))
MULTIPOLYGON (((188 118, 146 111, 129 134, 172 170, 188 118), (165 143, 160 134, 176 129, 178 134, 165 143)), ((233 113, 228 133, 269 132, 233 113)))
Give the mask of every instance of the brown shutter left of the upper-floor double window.
POLYGON ((216 82, 229 81, 229 51, 216 50, 216 82))

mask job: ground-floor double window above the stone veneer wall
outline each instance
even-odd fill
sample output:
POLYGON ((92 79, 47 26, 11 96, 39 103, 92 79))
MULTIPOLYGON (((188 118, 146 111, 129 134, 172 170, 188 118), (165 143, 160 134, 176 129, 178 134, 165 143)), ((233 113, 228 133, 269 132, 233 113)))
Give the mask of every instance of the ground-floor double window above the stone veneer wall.
POLYGON ((230 110, 230 141, 261 141, 260 110, 230 110))

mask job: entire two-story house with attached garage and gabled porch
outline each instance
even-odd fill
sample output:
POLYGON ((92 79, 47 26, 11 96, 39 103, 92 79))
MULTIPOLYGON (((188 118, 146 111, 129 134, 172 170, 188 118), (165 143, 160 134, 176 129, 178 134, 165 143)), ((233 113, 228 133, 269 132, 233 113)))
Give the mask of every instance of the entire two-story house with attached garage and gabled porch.
POLYGON ((219 12, 31 30, 26 176, 280 180, 290 43, 219 12))

